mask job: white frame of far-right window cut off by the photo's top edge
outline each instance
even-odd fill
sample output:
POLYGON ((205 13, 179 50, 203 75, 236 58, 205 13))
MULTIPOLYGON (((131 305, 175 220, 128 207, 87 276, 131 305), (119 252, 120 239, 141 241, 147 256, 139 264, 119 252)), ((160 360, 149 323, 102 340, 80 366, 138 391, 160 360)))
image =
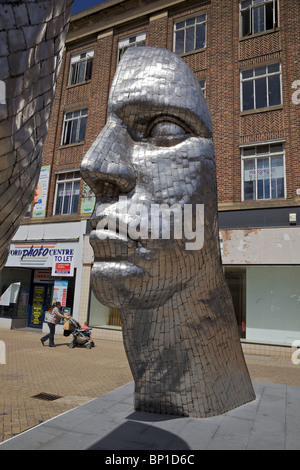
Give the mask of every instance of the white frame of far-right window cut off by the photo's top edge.
POLYGON ((279 0, 241 0, 240 1, 240 37, 245 38, 252 36, 254 34, 262 34, 267 31, 272 31, 275 28, 279 27, 279 0), (242 7, 242 4, 248 3, 249 5, 242 7), (268 4, 273 4, 273 27, 266 29, 266 6, 268 4), (254 33, 254 11, 257 8, 264 7, 264 29, 258 33, 254 33), (243 34, 243 12, 250 10, 250 31, 247 34, 243 34))

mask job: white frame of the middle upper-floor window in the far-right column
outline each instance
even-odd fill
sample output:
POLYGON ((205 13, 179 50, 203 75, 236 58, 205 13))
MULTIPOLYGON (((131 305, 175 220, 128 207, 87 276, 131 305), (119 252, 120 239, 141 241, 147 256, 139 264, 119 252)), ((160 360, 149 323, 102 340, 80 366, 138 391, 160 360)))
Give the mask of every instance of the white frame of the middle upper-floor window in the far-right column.
POLYGON ((272 63, 272 64, 261 64, 259 66, 256 66, 256 67, 252 67, 252 68, 247 68, 247 69, 243 69, 240 71, 240 101, 241 101, 241 112, 251 112, 251 111, 259 111, 261 109, 265 109, 265 108, 273 108, 274 106, 281 106, 282 105, 282 99, 283 99, 283 95, 282 95, 282 69, 281 69, 281 63, 280 62, 275 62, 275 63, 272 63), (279 65, 279 71, 276 71, 276 72, 270 72, 269 73, 269 70, 268 70, 268 67, 269 66, 272 66, 272 65, 275 65, 275 64, 278 64, 279 65), (266 67, 266 73, 265 74, 261 74, 261 75, 255 75, 255 70, 258 70, 259 68, 262 68, 262 67, 266 67), (243 78, 243 72, 245 71, 250 71, 250 70, 253 70, 253 75, 252 77, 249 77, 249 78, 243 78), (269 98, 269 81, 268 81, 268 77, 271 77, 271 76, 275 76, 275 75, 279 75, 279 81, 280 81, 280 103, 279 104, 276 104, 276 105, 270 105, 270 98, 269 98), (257 103, 256 103, 256 99, 257 99, 257 93, 256 93, 256 80, 259 80, 261 78, 266 78, 266 98, 267 98, 267 106, 265 107, 262 107, 262 108, 257 108, 257 103), (244 109, 244 102, 243 102, 243 83, 245 82, 250 82, 250 81, 253 81, 253 95, 254 95, 254 107, 253 108, 250 108, 250 109, 244 109))

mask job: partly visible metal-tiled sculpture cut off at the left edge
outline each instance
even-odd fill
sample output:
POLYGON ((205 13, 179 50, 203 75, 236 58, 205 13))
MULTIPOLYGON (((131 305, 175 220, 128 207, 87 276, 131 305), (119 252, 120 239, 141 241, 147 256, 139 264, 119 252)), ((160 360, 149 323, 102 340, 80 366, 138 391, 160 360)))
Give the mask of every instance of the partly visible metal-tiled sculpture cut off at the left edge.
POLYGON ((73 0, 0 0, 0 269, 34 196, 73 0))

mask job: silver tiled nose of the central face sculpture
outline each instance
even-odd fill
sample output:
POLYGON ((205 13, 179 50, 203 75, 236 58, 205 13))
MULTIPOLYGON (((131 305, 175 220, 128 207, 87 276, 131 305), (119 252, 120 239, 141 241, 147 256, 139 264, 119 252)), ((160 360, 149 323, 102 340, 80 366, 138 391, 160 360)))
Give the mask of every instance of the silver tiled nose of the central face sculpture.
POLYGON ((135 187, 131 151, 127 129, 118 121, 109 121, 81 163, 82 177, 96 196, 102 195, 103 183, 113 185, 121 193, 135 187))

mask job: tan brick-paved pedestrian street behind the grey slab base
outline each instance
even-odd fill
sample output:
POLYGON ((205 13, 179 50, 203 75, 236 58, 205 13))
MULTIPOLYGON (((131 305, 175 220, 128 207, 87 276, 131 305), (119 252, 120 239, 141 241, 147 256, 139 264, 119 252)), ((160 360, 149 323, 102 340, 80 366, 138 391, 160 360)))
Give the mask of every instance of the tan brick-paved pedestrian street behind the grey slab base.
MULTIPOLYGON (((70 338, 56 335, 56 347, 49 348, 41 336, 29 329, 0 330, 6 346, 6 364, 0 364, 0 442, 132 382, 121 342, 96 339, 93 349, 69 349, 70 338), (33 398, 41 393, 43 399, 33 398), (56 399, 46 400, 47 395, 56 399)), ((254 382, 300 386, 300 364, 291 358, 245 356, 254 382)))

